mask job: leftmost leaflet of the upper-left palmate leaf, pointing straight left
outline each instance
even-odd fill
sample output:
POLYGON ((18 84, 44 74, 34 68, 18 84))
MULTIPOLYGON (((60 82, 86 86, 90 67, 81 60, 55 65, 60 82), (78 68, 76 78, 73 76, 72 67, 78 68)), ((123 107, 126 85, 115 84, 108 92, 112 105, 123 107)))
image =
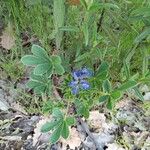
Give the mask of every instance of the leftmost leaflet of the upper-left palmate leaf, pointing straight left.
POLYGON ((29 66, 32 66, 32 65, 38 65, 38 64, 41 64, 41 63, 45 63, 46 61, 43 60, 43 59, 39 59, 38 57, 35 57, 33 55, 26 55, 26 56, 23 56, 21 58, 21 61, 24 65, 29 65, 29 66))

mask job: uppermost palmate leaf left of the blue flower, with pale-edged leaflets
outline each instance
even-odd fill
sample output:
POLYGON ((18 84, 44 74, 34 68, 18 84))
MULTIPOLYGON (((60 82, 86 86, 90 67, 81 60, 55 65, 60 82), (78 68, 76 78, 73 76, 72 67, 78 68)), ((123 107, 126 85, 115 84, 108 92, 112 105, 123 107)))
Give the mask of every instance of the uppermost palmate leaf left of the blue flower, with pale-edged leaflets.
POLYGON ((50 77, 53 73, 58 75, 64 74, 64 67, 61 65, 60 56, 48 56, 47 52, 38 45, 31 48, 33 55, 22 57, 21 61, 24 65, 34 66, 35 75, 47 74, 50 77))

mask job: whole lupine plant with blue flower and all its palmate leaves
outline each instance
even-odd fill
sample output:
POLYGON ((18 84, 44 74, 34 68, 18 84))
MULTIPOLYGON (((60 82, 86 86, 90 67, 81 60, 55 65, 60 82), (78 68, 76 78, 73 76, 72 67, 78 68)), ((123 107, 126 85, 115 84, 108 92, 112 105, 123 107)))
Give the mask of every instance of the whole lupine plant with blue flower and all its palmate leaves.
MULTIPOLYGON (((61 57, 58 55, 49 56, 38 45, 33 45, 31 52, 33 55, 26 55, 21 59, 23 64, 33 68, 27 86, 39 96, 45 94, 47 98, 52 97, 54 91, 53 77, 65 77, 61 57)), ((52 109, 53 119, 44 124, 41 131, 52 132, 50 137, 52 144, 56 143, 60 137, 67 139, 69 126, 75 125, 78 116, 87 119, 89 110, 93 106, 102 103, 109 110, 112 110, 123 93, 131 88, 142 99, 137 88, 138 81, 134 76, 115 88, 113 88, 110 79, 109 64, 105 61, 100 63, 95 72, 87 67, 72 70, 69 78, 64 80, 65 88, 63 88, 64 91, 61 91, 64 94, 60 96, 65 107, 56 105, 59 103, 58 100, 55 101, 55 105, 53 105, 53 100, 47 103, 48 110, 52 109), (69 112, 71 107, 74 109, 72 114, 69 112)))

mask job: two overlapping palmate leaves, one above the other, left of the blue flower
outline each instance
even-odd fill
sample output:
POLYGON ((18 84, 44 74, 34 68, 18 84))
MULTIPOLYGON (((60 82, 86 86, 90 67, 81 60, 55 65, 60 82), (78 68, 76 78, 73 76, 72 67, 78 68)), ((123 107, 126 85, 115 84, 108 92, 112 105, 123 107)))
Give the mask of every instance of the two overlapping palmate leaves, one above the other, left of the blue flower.
POLYGON ((62 75, 65 72, 61 65, 61 58, 57 55, 49 57, 46 51, 38 45, 33 45, 31 52, 33 55, 21 58, 24 65, 35 67, 27 86, 36 94, 49 94, 52 87, 50 80, 52 74, 62 75))

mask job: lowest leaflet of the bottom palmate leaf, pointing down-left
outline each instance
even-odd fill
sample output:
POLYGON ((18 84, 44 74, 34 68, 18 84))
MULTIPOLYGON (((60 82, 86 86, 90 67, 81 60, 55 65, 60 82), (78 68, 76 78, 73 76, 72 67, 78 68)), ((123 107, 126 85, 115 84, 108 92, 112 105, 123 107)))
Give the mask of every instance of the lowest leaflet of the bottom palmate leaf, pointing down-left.
POLYGON ((54 144, 59 140, 61 131, 62 131, 62 127, 63 127, 62 125, 63 125, 63 123, 61 125, 59 125, 52 133, 52 135, 50 137, 51 144, 54 144))

